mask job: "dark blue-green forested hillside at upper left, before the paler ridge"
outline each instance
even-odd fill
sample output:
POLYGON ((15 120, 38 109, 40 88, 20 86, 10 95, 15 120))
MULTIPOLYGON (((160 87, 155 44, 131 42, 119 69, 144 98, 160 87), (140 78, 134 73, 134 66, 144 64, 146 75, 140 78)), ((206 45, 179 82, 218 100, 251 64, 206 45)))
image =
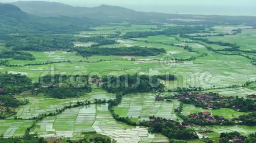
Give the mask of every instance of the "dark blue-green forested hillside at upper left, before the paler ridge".
POLYGON ((0 34, 11 33, 75 33, 88 31, 103 23, 99 19, 49 17, 27 14, 11 4, 0 4, 0 34))

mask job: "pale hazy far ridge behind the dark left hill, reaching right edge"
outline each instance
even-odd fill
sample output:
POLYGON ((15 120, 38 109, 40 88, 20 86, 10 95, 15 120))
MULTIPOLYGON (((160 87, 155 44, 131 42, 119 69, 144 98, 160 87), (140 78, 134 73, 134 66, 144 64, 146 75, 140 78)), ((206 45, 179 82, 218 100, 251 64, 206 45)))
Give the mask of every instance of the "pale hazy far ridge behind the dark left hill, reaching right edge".
POLYGON ((45 1, 19 1, 10 3, 20 7, 22 11, 42 17, 87 17, 105 21, 133 21, 148 22, 152 19, 197 19, 203 21, 218 21, 232 24, 248 23, 254 25, 256 17, 252 16, 217 16, 217 15, 188 15, 188 14, 164 14, 155 12, 139 12, 124 7, 101 5, 99 7, 73 7, 67 4, 45 1))

